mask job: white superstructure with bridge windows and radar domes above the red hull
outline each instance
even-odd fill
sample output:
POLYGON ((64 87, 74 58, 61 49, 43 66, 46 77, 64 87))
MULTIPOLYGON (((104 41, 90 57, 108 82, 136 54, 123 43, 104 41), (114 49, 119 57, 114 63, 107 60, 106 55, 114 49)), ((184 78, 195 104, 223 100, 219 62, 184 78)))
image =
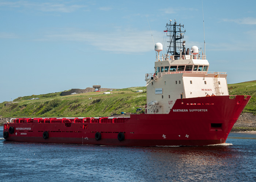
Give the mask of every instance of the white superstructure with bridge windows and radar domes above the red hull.
MULTIPOLYGON (((171 26, 181 25, 176 25, 175 22, 171 26)), ((170 30, 170 32, 174 31, 170 30)), ((161 47, 159 44, 157 43, 155 49, 161 47)), ((226 72, 208 72, 209 63, 206 56, 200 55, 196 46, 193 46, 190 52, 189 49, 185 52, 185 41, 182 46, 180 54, 170 51, 159 56, 159 48, 156 50, 158 55, 155 61, 155 71, 146 74, 145 79, 147 86, 146 114, 168 114, 176 99, 180 98, 229 95, 226 72), (173 55, 169 55, 169 53, 173 55)), ((177 50, 178 46, 169 47, 174 47, 174 50, 177 50)))

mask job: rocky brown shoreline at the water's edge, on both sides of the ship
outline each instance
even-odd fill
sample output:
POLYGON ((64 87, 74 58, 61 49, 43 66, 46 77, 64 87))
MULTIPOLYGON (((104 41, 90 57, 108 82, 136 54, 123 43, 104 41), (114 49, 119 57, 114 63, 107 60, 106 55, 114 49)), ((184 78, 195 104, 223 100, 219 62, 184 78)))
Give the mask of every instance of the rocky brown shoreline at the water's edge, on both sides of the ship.
MULTIPOLYGON (((11 118, 0 118, 0 126, 10 122, 11 118)), ((256 131, 256 116, 251 113, 242 113, 234 124, 231 132, 256 131)), ((255 132, 256 133, 256 132, 255 132)))

